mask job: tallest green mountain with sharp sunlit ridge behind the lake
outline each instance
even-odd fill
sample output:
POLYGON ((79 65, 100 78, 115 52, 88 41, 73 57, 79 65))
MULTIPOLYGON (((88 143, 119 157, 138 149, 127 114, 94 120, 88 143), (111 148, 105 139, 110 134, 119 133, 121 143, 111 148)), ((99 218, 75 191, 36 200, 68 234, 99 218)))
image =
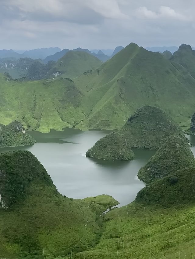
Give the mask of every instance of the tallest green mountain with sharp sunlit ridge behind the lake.
POLYGON ((195 80, 187 70, 134 43, 74 81, 87 104, 88 118, 78 128, 119 129, 143 105, 160 107, 187 127, 195 110, 195 80))

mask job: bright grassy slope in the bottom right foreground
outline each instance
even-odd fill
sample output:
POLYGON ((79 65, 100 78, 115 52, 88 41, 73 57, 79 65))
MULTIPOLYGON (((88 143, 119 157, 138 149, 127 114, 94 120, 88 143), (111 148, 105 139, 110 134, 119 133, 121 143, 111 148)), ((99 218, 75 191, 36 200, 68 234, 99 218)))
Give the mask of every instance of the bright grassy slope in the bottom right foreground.
POLYGON ((171 209, 139 203, 105 215, 105 230, 95 248, 76 258, 194 258, 195 206, 171 209))

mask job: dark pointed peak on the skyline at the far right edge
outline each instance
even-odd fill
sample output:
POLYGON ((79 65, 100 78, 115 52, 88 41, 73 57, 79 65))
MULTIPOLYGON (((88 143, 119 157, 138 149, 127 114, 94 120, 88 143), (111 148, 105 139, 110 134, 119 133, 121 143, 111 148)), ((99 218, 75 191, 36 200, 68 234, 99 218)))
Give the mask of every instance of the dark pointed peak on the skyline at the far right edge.
POLYGON ((195 78, 195 50, 190 45, 182 44, 178 51, 173 53, 171 61, 181 64, 195 78))

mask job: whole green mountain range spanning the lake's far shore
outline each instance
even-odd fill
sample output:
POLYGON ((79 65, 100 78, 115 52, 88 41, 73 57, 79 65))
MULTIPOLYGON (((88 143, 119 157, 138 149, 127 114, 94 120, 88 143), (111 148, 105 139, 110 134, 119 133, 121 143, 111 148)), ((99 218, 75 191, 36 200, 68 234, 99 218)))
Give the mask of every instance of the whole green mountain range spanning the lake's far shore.
POLYGON ((187 129, 195 111, 195 79, 190 74, 195 60, 193 55, 191 61, 186 58, 192 49, 181 48, 186 51, 181 56, 185 67, 130 43, 102 65, 86 52, 68 52, 54 64, 55 71, 51 67, 51 74, 46 73, 48 79, 36 82, 0 75, 0 123, 19 120, 25 128, 42 132, 119 129, 138 108, 153 105, 187 129))

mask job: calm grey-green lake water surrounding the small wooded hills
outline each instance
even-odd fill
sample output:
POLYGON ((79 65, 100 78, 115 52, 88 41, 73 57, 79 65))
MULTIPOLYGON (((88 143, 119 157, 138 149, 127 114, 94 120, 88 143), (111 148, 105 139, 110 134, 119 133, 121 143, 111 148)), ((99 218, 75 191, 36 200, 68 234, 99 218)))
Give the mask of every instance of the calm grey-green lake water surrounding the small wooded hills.
MULTIPOLYGON (((1 148, 0 152, 23 149, 32 152, 47 169, 62 195, 74 199, 108 194, 120 206, 133 201, 144 183, 137 178, 138 170, 154 154, 151 150, 133 150, 132 161, 104 161, 86 158, 86 151, 111 131, 80 131, 65 129, 40 133, 29 132, 37 141, 33 146, 1 148)), ((190 136, 189 136, 190 137, 190 136)), ((195 153, 195 138, 190 137, 195 153)))

